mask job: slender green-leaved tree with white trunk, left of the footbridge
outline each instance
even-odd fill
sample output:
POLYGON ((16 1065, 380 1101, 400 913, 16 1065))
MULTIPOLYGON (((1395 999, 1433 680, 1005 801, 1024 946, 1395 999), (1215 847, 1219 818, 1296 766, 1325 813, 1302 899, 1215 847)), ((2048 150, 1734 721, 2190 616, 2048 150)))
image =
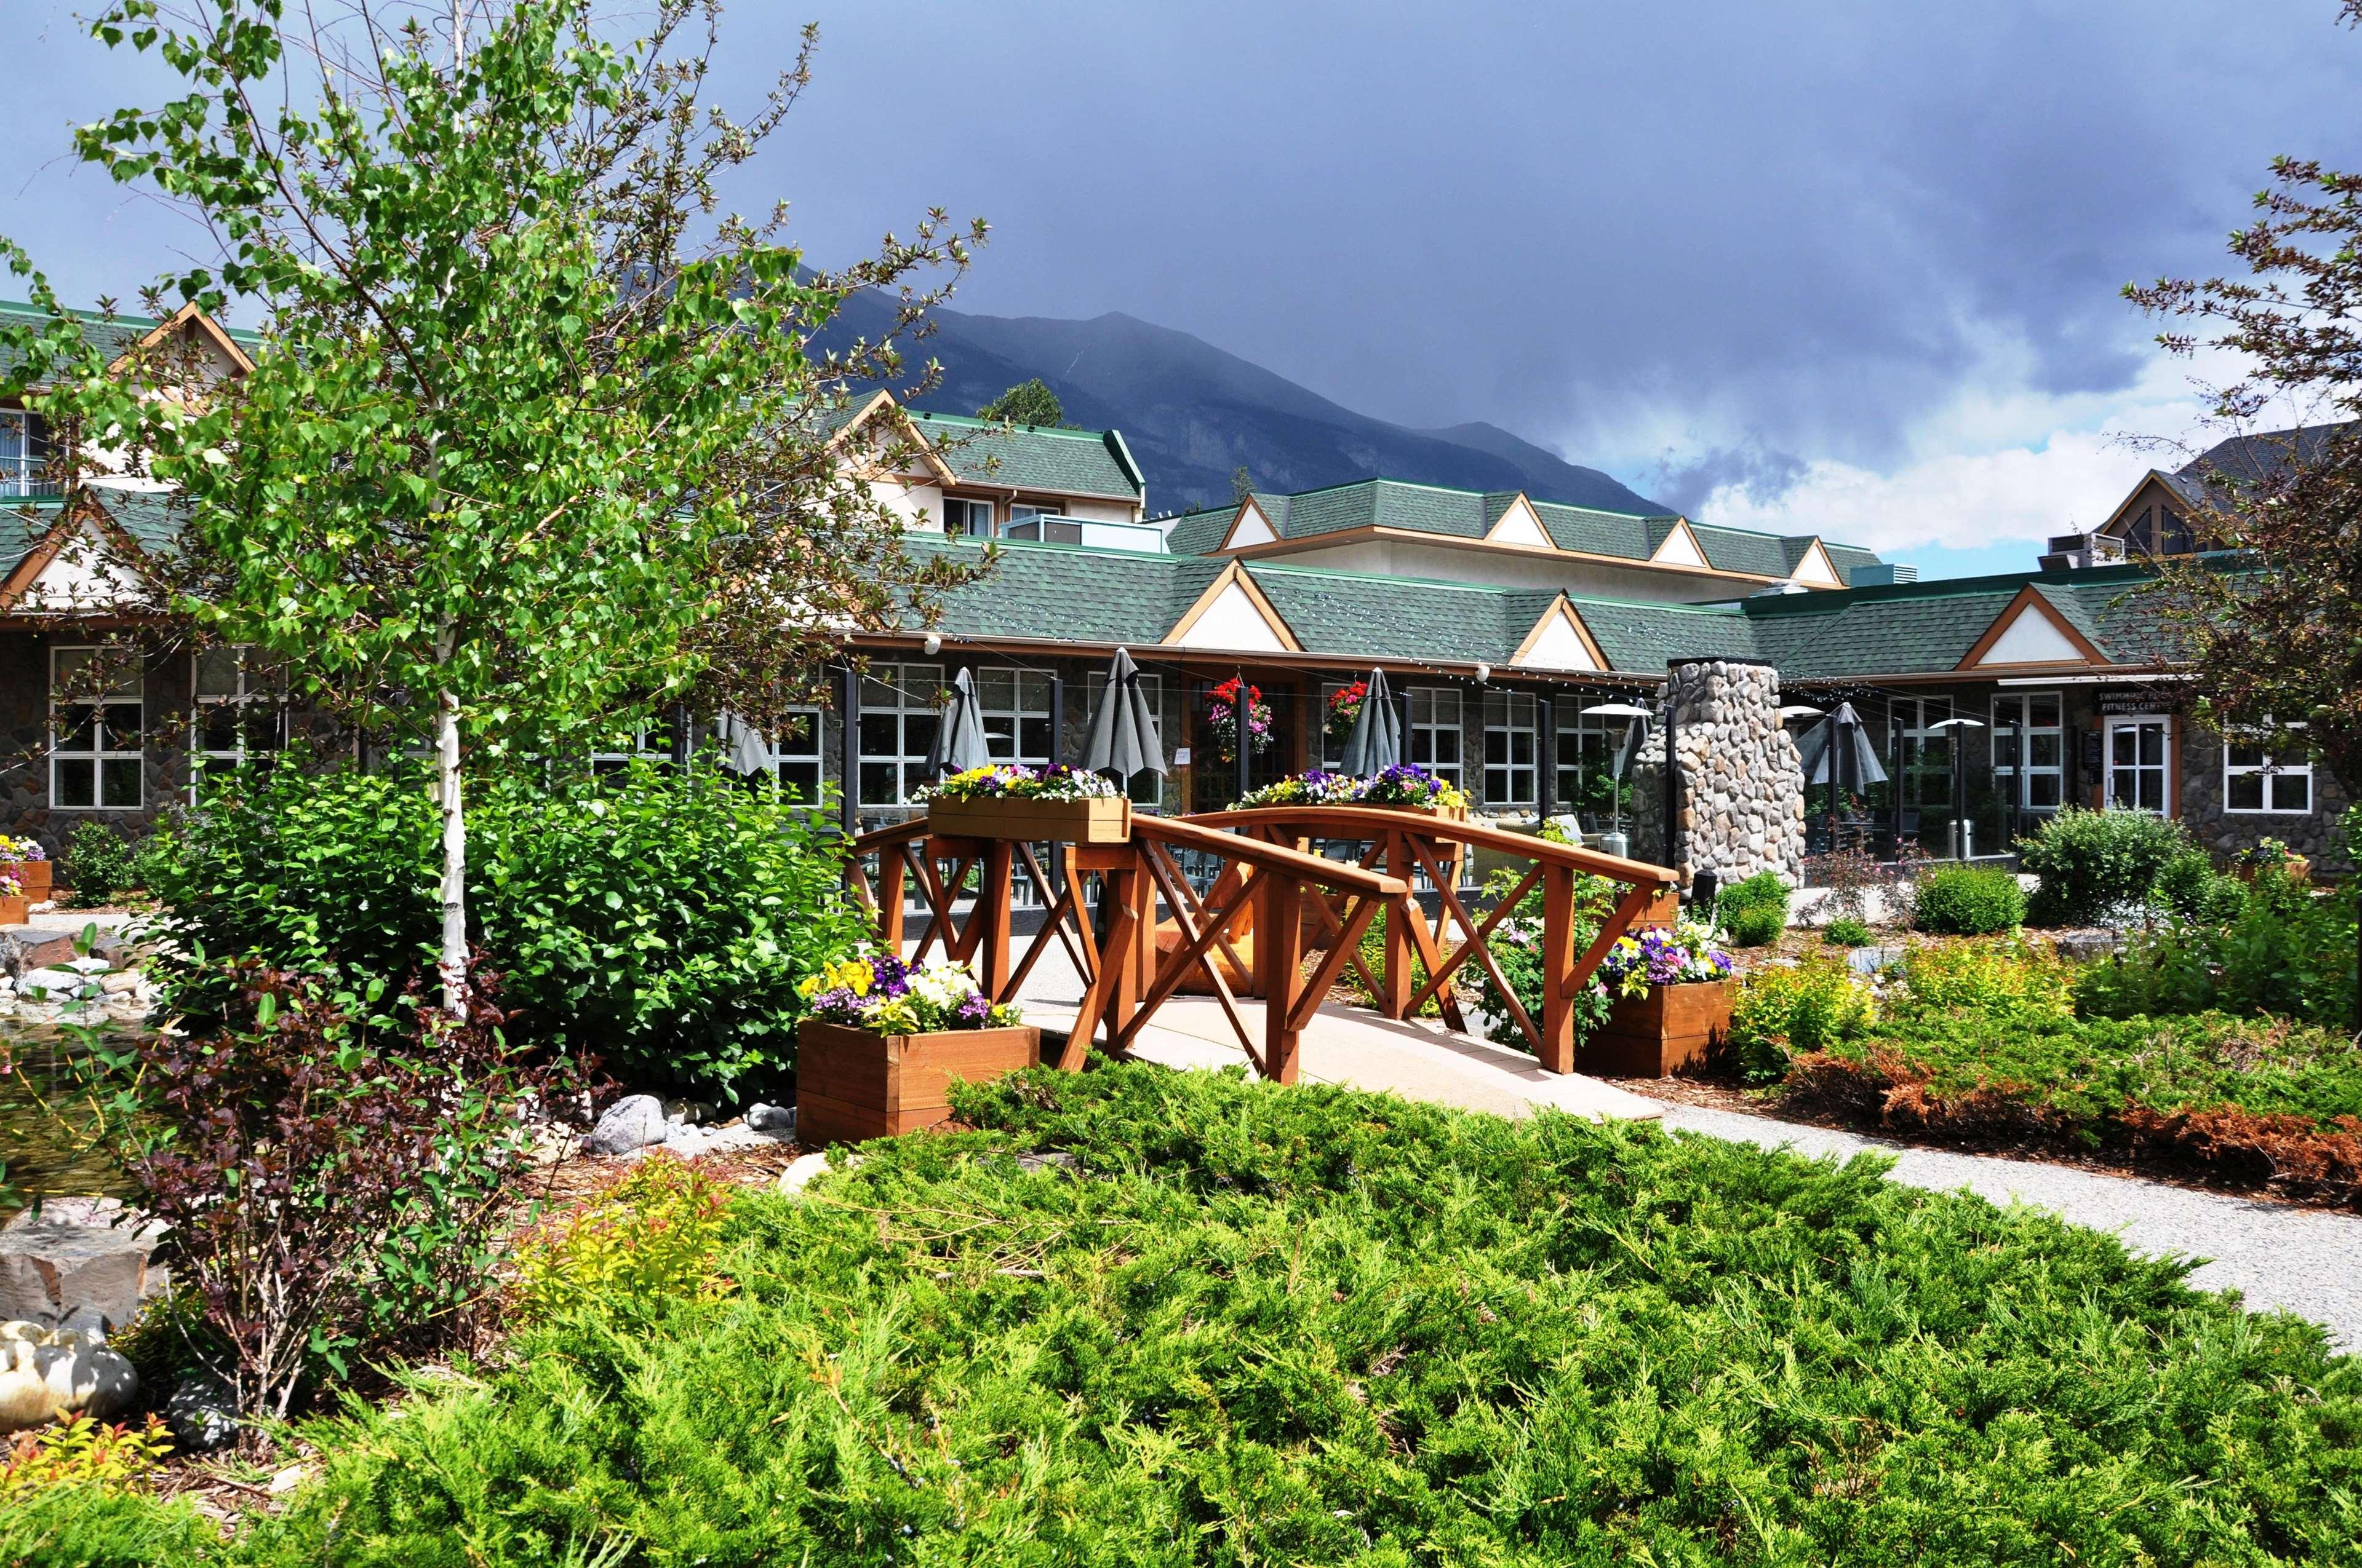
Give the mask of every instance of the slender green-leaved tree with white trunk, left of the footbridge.
POLYGON ((78 130, 76 151, 210 227, 220 257, 156 300, 260 302, 255 368, 109 368, 5 250, 54 314, 0 342, 5 390, 38 387, 52 423, 187 501, 156 609, 267 649, 364 732, 432 746, 451 1013, 472 772, 586 751, 692 694, 761 723, 843 631, 952 581, 841 482, 829 413, 924 331, 940 290, 909 274, 957 274, 983 224, 928 213, 813 274, 779 243, 784 203, 720 213, 716 177, 779 125, 815 35, 739 123, 699 102, 716 21, 664 0, 624 50, 588 0, 210 0, 189 21, 116 0, 94 35, 158 54, 187 94, 78 130), (692 17, 704 38, 676 52, 692 17), (855 288, 900 290, 895 333, 815 359, 855 288))

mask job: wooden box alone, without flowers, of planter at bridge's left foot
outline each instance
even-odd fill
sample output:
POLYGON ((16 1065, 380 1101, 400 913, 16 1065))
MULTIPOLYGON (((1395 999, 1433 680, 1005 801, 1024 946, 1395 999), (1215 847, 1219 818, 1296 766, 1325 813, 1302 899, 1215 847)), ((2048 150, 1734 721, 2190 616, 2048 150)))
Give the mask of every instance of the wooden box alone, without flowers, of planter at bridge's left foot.
POLYGON ((796 1025, 796 1141, 898 1138, 950 1119, 952 1079, 983 1084, 1042 1060, 1042 1030, 872 1034, 805 1018, 796 1025))

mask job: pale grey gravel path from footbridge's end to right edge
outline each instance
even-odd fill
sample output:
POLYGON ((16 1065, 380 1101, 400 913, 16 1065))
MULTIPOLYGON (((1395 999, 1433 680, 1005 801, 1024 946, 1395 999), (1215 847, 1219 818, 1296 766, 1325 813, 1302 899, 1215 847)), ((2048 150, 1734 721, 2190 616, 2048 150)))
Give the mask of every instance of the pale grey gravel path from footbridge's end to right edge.
POLYGON ((2234 1289, 2251 1311, 2310 1318, 2329 1329, 2338 1348, 2362 1351, 2362 1214, 2194 1193, 2031 1159, 1956 1155, 1703 1105, 1665 1105, 1663 1124, 1764 1148, 1786 1143, 1800 1155, 1892 1155, 1892 1178, 1913 1188, 1968 1188, 1996 1204, 2034 1204, 2079 1226, 2112 1230, 2140 1254, 2211 1259, 2190 1275, 2199 1289, 2234 1289))

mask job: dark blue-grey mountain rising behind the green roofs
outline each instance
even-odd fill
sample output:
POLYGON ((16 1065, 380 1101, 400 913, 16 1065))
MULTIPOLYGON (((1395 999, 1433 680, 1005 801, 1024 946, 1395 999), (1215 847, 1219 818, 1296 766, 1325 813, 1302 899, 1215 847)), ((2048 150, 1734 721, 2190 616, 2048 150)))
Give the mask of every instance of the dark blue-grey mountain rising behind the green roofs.
MULTIPOLYGON (((1120 312, 1089 321, 935 312, 935 335, 919 359, 942 361, 942 385, 912 399, 940 413, 976 413, 1006 387, 1039 375, 1065 418, 1089 430, 1122 430, 1148 475, 1150 512, 1228 505, 1231 475, 1245 468, 1257 489, 1306 491, 1323 484, 1417 479, 1481 491, 1526 491, 1535 501, 1611 512, 1670 508, 1580 468, 1498 425, 1410 430, 1299 387, 1285 375, 1226 354, 1202 338, 1120 312)), ((879 333, 886 305, 848 300, 822 342, 879 333)))

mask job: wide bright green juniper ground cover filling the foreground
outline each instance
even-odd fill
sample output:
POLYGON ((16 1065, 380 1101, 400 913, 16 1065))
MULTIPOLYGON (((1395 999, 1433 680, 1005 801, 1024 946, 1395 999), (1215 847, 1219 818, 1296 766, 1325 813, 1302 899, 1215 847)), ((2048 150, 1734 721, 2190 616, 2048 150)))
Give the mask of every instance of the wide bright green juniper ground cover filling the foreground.
MULTIPOLYGON (((2362 1365, 2036 1211, 1157 1067, 964 1110, 983 1131, 739 1200, 732 1289, 590 1299, 505 1370, 314 1426, 319 1481, 222 1551, 2362 1561, 2362 1365), (1013 1159, 1042 1148, 1075 1167, 1013 1159)), ((45 1518, 0 1556, 158 1530, 45 1518)))

